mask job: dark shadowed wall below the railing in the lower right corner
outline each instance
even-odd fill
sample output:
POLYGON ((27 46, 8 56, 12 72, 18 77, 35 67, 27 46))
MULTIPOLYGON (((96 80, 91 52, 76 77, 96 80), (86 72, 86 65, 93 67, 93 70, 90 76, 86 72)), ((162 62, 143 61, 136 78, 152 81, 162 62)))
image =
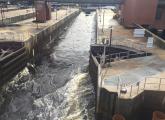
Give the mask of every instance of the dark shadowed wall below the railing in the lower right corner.
POLYGON ((154 111, 165 112, 165 92, 144 91, 133 99, 119 99, 115 110, 126 120, 151 120, 154 111))

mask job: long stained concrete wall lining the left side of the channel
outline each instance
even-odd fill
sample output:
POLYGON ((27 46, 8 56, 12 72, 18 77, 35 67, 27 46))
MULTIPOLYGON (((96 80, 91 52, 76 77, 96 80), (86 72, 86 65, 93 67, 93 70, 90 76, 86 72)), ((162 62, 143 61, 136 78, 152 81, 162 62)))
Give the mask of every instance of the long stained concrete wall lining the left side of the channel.
POLYGON ((50 42, 54 38, 57 38, 60 32, 62 32, 64 26, 70 23, 70 21, 73 20, 79 13, 80 11, 72 13, 59 22, 46 27, 42 31, 32 36, 29 40, 27 40, 24 45, 30 54, 30 61, 34 63, 40 62, 45 43, 50 42))

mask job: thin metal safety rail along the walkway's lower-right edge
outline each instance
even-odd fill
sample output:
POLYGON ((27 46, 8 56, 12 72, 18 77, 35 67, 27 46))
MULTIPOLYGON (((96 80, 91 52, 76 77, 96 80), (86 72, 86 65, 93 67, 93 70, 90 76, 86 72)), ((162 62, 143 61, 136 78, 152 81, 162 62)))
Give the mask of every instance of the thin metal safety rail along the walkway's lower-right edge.
MULTIPOLYGON (((107 81, 108 82, 108 81, 107 81)), ((121 83, 118 78, 118 83, 103 83, 105 88, 108 88, 112 92, 117 92, 121 98, 132 98, 145 90, 151 91, 165 91, 165 78, 159 77, 145 77, 141 81, 134 83, 121 83)))

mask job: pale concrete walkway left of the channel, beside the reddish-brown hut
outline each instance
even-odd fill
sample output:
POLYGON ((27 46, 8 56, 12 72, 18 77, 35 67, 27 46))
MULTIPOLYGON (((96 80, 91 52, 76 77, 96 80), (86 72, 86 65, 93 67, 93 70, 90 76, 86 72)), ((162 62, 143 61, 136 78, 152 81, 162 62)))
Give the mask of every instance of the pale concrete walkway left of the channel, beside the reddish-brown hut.
POLYGON ((26 41, 28 40, 31 35, 34 35, 44 28, 49 27, 61 19, 69 16, 73 12, 78 11, 78 9, 71 9, 70 11, 66 10, 59 10, 57 12, 57 19, 56 19, 56 12, 52 12, 52 19, 45 22, 45 23, 34 23, 33 19, 27 19, 21 22, 17 22, 12 26, 8 27, 1 27, 0 28, 0 41, 26 41))

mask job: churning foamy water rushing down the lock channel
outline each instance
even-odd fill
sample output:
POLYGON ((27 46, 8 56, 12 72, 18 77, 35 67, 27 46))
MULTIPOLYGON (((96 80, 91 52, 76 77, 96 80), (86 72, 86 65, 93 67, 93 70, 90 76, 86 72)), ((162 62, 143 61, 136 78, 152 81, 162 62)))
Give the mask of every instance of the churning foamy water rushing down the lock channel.
POLYGON ((36 74, 25 69, 0 93, 0 120, 92 120, 94 94, 88 75, 94 14, 81 13, 45 45, 36 74))

